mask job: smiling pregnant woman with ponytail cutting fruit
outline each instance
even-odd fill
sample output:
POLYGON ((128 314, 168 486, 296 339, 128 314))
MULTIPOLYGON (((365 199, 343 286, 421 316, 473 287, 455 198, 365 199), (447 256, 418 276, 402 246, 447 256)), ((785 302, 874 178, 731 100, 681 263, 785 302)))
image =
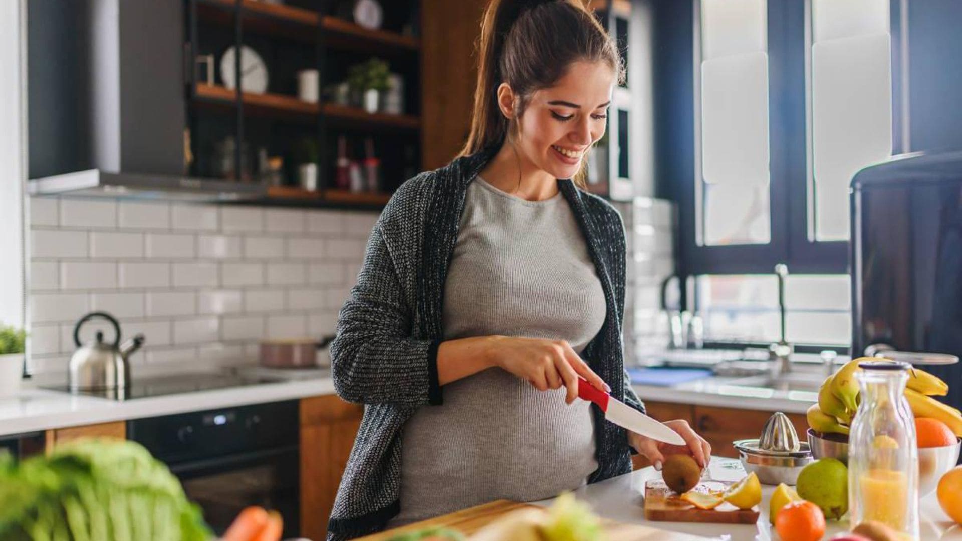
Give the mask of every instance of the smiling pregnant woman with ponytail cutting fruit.
POLYGON ((580 375, 645 411, 622 357, 624 228, 578 180, 615 44, 577 0, 493 0, 479 46, 461 157, 394 193, 341 310, 335 386, 367 407, 328 539, 551 498, 630 472, 632 448, 656 467, 710 454, 684 421, 668 449, 577 399, 580 375))

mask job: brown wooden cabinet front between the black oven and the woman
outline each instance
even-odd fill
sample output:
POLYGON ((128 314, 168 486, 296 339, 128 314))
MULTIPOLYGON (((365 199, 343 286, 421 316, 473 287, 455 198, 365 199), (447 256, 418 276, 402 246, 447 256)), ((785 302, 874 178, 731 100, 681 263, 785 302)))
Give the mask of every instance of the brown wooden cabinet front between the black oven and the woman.
POLYGON ((301 537, 324 539, 364 406, 335 395, 300 402, 301 537))

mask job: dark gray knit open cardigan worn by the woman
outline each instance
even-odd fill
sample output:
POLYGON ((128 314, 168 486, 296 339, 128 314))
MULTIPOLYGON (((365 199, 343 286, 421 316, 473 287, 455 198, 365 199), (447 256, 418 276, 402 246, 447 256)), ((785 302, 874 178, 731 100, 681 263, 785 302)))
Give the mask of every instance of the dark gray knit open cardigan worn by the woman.
MULTIPOLYGON (((468 184, 490 152, 419 174, 393 194, 367 241, 364 265, 344 302, 331 364, 338 395, 365 404, 328 524, 337 541, 384 528, 400 509, 401 433, 419 407, 443 402, 437 355, 442 342, 444 279, 458 240, 468 184)), ((618 211, 570 180, 558 187, 570 204, 604 290, 607 315, 581 355, 613 397, 645 411, 624 371, 624 227, 618 211)), ((625 431, 593 407, 596 482, 631 471, 625 431)))

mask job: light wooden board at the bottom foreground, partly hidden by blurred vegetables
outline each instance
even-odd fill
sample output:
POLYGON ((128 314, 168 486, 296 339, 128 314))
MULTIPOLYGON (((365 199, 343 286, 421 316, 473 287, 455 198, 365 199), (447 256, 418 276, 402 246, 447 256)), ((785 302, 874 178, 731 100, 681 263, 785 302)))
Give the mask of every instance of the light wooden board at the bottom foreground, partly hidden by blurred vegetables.
MULTIPOLYGON (((401 528, 393 528, 367 537, 360 537, 355 541, 387 541, 399 533, 438 527, 457 529, 465 535, 470 535, 512 511, 526 507, 541 508, 530 503, 497 500, 401 528)), ((619 523, 606 519, 602 519, 601 524, 604 526, 609 541, 703 541, 705 539, 687 533, 619 523)))

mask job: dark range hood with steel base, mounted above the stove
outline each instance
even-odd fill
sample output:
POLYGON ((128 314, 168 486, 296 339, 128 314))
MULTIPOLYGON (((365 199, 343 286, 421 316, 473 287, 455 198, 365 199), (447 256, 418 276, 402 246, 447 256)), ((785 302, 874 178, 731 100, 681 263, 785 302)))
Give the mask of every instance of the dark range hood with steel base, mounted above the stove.
POLYGON ((185 60, 184 2, 44 4, 32 3, 28 13, 29 193, 189 201, 266 196, 261 183, 185 175, 192 62, 185 60), (55 67, 61 64, 75 66, 75 76, 63 75, 55 67))

